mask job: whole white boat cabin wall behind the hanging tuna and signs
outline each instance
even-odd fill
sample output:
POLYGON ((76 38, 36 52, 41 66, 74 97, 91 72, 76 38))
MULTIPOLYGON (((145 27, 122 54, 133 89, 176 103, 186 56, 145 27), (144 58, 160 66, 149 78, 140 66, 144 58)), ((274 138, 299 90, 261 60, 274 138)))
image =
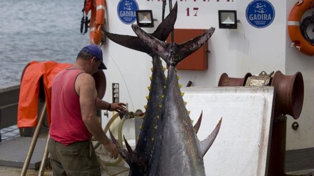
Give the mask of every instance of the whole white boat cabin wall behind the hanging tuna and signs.
MULTIPOLYGON (((287 20, 294 0, 275 1, 269 0, 275 10, 273 22, 266 28, 251 26, 245 16, 245 11, 252 1, 210 0, 182 1, 178 2, 178 17, 175 28, 208 29, 215 27, 214 35, 209 40, 209 67, 207 71, 183 71, 179 70, 180 84, 186 85, 188 81, 193 86, 214 87, 222 73, 230 77, 243 78, 248 72, 258 74, 261 71, 270 73, 280 70, 284 74, 294 74, 300 71, 303 74, 305 84, 305 97, 301 117, 298 123, 300 128, 292 131, 292 118, 288 118, 287 149, 299 149, 314 147, 313 138, 313 58, 305 56, 295 48, 289 48, 290 38, 287 34, 287 20), (186 9, 190 8, 190 16, 186 9), (192 8, 199 8, 198 16, 193 16, 192 8), (219 29, 218 10, 237 10, 238 29, 219 29)), ((117 16, 117 4, 119 1, 106 1, 107 5, 107 30, 111 33, 135 35, 131 25, 126 25, 117 16)), ((154 28, 143 28, 147 32, 153 30, 161 22, 162 1, 138 0, 139 9, 153 10, 155 22, 154 28)), ((168 1, 167 1, 168 3, 168 1)), ((175 1, 173 1, 174 5, 175 1)), ((169 14, 169 6, 166 7, 166 15, 169 14)), ((105 64, 108 70, 107 92, 105 99, 112 101, 111 83, 120 83, 121 101, 129 103, 129 110, 144 109, 145 96, 148 94, 147 86, 151 75, 151 58, 139 51, 115 44, 108 40, 104 49, 105 64), (128 92, 129 91, 129 92, 128 92), (130 93, 130 94, 129 94, 130 93), (131 102, 132 100, 132 102, 131 102)), ((106 120, 106 118, 105 118, 106 120)), ((129 122, 132 125, 132 122, 129 122)), ((127 138, 134 138, 134 129, 128 129, 127 138)))

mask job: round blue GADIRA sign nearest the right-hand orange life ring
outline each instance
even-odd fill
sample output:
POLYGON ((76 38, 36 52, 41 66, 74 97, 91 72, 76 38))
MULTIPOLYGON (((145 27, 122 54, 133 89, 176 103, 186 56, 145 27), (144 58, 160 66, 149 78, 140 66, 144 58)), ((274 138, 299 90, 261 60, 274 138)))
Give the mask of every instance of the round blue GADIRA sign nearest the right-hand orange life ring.
POLYGON ((270 25, 274 19, 273 6, 267 0, 255 0, 246 10, 248 22, 256 28, 264 28, 270 25))

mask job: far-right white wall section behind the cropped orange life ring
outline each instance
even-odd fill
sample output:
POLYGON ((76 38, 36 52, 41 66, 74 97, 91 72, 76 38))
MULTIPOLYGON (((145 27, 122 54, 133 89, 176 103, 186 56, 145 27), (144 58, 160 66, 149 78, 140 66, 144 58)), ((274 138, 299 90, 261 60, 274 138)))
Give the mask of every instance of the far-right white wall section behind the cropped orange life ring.
MULTIPOLYGON (((291 9, 296 1, 287 0, 286 10, 286 26, 291 9)), ((294 120, 289 117, 287 120, 287 149, 299 149, 314 147, 314 58, 307 56, 296 48, 290 48, 291 40, 289 38, 288 27, 286 27, 286 74, 293 75, 296 72, 301 72, 304 80, 304 102, 299 119, 294 120), (299 123, 298 130, 293 130, 291 125, 293 122, 299 123)))

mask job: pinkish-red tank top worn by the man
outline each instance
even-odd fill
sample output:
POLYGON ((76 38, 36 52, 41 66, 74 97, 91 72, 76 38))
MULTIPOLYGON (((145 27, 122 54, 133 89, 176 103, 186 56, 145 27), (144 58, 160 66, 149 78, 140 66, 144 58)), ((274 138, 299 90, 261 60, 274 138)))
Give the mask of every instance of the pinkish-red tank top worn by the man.
POLYGON ((74 83, 77 76, 84 73, 79 69, 68 69, 59 72, 52 83, 50 137, 69 145, 77 141, 91 139, 81 115, 80 97, 74 83))

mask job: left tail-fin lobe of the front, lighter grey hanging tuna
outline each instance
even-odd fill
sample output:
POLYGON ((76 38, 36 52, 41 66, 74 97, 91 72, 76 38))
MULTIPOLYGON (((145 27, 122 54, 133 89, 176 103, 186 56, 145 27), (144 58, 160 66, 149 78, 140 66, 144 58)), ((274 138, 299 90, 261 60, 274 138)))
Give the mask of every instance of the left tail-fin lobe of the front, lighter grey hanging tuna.
MULTIPOLYGON (((143 41, 143 43, 148 45, 148 47, 150 47, 154 53, 161 56, 164 60, 165 58, 167 58, 166 50, 169 43, 160 41, 153 36, 147 34, 136 24, 132 24, 132 29, 136 33, 136 35, 143 41)), ((168 63, 168 61, 166 61, 166 63, 168 63)))

